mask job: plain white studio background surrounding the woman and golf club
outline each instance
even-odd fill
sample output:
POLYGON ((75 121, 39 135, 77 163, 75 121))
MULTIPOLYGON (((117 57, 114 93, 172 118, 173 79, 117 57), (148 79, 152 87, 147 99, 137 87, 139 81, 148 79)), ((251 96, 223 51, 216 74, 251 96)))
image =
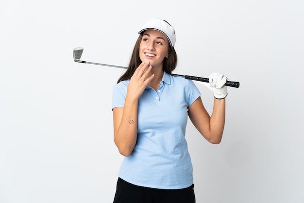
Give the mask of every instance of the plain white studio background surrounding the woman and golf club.
MULTIPOLYGON (((176 31, 175 73, 221 72, 220 145, 188 123, 198 203, 304 203, 303 0, 0 0, 0 203, 111 203, 112 87, 137 31, 176 31)), ((208 112, 212 93, 199 85, 208 112)))

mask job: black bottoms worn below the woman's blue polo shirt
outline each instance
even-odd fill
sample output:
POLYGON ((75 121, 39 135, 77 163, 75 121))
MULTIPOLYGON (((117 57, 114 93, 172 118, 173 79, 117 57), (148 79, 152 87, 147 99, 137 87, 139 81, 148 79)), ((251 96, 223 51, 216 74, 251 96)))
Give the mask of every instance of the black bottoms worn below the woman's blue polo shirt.
POLYGON ((194 185, 183 189, 135 186, 118 178, 113 203, 195 203, 194 185))

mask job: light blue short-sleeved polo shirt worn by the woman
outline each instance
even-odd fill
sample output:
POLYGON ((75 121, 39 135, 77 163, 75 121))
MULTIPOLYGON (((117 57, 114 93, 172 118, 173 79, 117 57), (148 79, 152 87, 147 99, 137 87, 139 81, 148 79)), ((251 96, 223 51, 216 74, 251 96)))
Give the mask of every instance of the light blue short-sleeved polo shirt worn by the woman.
MULTIPOLYGON (((130 80, 114 85, 112 107, 123 107, 130 80)), ((185 139, 188 106, 201 95, 191 80, 164 72, 159 89, 138 100, 137 141, 118 176, 137 186, 181 189, 193 184, 185 139)))

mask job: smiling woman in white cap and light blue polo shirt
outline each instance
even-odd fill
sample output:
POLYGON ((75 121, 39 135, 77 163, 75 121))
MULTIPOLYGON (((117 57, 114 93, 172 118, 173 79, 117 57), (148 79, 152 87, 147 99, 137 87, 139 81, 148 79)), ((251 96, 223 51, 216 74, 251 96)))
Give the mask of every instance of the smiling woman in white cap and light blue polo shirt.
POLYGON ((210 117, 194 83, 170 75, 177 65, 173 27, 151 19, 138 34, 129 67, 113 90, 114 142, 125 156, 114 203, 194 203, 187 117, 209 142, 220 143, 226 77, 209 77, 215 97, 210 117))

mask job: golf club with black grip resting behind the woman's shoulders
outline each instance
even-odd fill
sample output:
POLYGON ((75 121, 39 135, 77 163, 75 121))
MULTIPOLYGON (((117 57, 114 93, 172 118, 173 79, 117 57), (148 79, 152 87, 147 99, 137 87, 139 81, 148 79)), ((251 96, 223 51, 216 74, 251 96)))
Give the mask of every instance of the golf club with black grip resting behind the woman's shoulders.
MULTIPOLYGON (((100 66, 108 66, 108 67, 114 67, 114 68, 124 68, 124 69, 127 68, 127 67, 114 66, 114 65, 109 65, 109 64, 100 64, 100 63, 81 61, 80 58, 81 58, 81 55, 83 54, 83 51, 84 51, 84 48, 82 48, 82 47, 77 47, 73 50, 73 57, 74 57, 75 62, 83 63, 83 64, 94 64, 94 65, 100 65, 100 66)), ((171 75, 184 77, 184 78, 189 79, 189 80, 196 80, 196 81, 209 83, 209 78, 202 78, 202 77, 196 77, 196 76, 190 76, 190 75, 178 75, 178 74, 172 74, 172 73, 171 73, 171 75)), ((239 87, 239 82, 227 81, 225 83, 225 85, 238 88, 239 87)))

